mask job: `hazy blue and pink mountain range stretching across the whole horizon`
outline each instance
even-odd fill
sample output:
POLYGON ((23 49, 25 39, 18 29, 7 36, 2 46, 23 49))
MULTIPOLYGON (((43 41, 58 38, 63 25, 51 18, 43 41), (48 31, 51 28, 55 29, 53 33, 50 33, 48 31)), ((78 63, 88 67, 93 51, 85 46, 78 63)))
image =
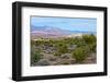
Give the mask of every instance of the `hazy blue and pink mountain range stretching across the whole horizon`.
POLYGON ((96 34, 96 32, 86 32, 86 31, 66 31, 58 27, 53 26, 31 26, 31 36, 32 38, 37 37, 63 37, 70 34, 96 34))

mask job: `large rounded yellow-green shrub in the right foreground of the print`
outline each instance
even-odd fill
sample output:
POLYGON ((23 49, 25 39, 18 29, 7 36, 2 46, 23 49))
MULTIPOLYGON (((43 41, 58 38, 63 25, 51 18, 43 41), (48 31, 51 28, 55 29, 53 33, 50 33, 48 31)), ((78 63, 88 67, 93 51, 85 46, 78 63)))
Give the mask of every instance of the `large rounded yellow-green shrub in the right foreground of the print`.
POLYGON ((76 59, 76 62, 81 62, 87 57, 87 47, 78 47, 74 50, 72 57, 76 59))

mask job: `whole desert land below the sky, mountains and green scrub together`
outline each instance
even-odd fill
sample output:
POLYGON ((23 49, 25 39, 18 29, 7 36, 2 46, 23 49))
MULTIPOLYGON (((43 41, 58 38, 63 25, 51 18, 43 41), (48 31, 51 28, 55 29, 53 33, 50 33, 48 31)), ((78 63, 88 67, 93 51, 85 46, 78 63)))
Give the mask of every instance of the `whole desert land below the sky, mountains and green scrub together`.
POLYGON ((85 64, 97 62, 96 32, 32 26, 31 66, 85 64))

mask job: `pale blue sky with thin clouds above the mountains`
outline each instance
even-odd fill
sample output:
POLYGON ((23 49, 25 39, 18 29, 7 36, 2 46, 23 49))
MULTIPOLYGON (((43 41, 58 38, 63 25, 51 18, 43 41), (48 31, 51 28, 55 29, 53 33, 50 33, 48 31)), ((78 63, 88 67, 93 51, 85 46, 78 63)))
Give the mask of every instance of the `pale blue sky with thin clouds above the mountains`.
POLYGON ((97 19, 31 16, 31 25, 53 26, 67 31, 97 31, 97 19))

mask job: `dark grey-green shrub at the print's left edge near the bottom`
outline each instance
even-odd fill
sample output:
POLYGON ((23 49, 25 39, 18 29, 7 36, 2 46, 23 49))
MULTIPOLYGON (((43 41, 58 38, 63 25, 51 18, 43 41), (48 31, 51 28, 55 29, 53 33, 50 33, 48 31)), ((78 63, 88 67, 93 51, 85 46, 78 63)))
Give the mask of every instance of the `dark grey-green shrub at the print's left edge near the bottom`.
POLYGON ((43 55, 40 54, 40 51, 32 51, 31 52, 31 63, 37 62, 43 55))

